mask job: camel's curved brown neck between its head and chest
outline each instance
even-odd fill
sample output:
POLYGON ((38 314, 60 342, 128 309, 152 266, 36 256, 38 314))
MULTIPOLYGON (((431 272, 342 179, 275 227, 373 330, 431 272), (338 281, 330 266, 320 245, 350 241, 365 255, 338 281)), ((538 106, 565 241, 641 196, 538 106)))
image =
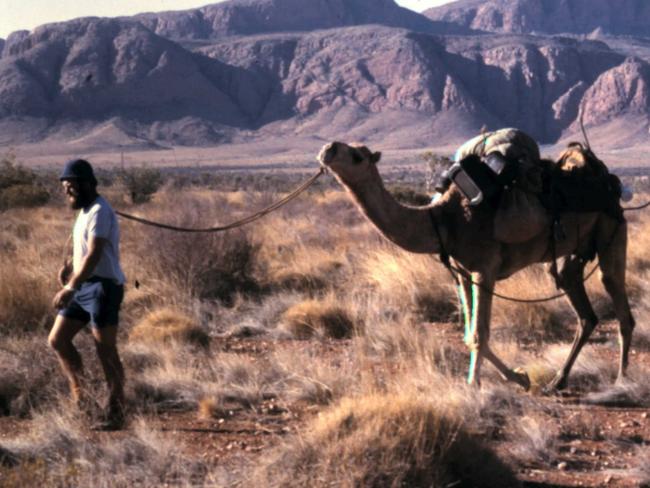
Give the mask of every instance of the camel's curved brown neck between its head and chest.
MULTIPOLYGON (((348 184, 340 181, 350 191, 364 215, 387 239, 410 252, 440 252, 430 215, 431 211, 438 214, 440 209, 400 204, 386 190, 378 173, 362 183, 348 184)), ((440 222, 440 218, 437 222, 440 222)), ((439 230, 444 239, 444 229, 439 230)))

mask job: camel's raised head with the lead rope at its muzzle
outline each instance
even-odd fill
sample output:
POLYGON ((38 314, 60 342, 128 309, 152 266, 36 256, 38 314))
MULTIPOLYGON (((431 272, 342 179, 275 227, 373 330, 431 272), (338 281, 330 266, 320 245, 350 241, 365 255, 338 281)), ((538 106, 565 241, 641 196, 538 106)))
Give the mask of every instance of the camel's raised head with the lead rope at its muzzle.
POLYGON ((380 152, 372 152, 360 144, 330 142, 318 154, 321 165, 331 169, 345 183, 354 183, 377 174, 375 164, 381 159, 380 152))

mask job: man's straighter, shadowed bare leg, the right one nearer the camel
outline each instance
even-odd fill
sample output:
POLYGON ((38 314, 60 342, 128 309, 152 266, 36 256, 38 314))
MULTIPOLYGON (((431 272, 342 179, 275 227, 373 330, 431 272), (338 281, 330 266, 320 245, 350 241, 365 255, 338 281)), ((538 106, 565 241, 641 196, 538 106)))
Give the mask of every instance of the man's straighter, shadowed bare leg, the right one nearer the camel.
POLYGON ((124 413, 124 368, 117 352, 117 326, 93 327, 91 330, 108 384, 109 414, 121 416, 124 413))

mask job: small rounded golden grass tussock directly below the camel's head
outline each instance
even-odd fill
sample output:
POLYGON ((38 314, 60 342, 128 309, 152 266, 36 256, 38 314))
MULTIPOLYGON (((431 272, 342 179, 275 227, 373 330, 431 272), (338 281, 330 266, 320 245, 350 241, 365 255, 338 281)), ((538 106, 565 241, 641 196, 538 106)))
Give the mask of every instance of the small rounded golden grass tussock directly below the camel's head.
POLYGON ((289 307, 279 327, 297 339, 324 337, 345 339, 358 329, 354 318, 334 297, 306 300, 289 307))

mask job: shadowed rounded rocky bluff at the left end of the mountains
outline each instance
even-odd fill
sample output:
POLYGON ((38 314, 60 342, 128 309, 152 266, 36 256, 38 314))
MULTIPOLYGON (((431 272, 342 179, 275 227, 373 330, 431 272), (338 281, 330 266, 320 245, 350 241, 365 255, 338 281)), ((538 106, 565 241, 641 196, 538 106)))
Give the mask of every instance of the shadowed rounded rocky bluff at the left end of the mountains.
MULTIPOLYGON (((212 66, 220 68, 228 70, 212 66)), ((246 123, 196 55, 137 22, 94 18, 49 24, 12 42, 0 60, 0 117, 7 116, 246 123)))

